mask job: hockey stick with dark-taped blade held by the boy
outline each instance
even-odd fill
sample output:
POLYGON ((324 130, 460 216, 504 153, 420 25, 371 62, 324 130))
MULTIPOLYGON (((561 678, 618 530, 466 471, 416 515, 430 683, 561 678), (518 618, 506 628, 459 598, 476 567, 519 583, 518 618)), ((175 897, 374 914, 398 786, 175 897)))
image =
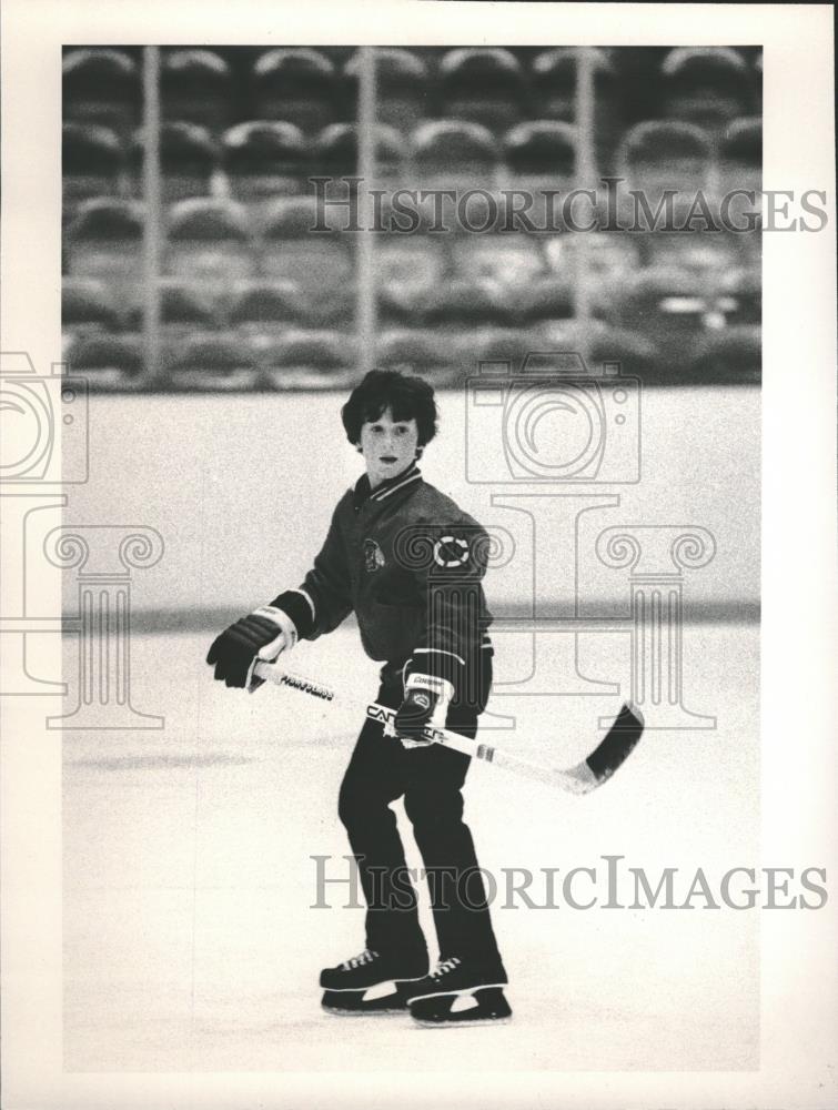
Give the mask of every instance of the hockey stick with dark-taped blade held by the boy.
MULTIPOLYGON (((291 689, 301 690, 312 697, 322 698, 324 702, 333 702, 339 697, 335 690, 329 686, 322 686, 320 683, 301 678, 299 675, 289 674, 272 663, 258 662, 253 666, 251 675, 252 678, 248 686, 250 693, 253 693, 263 682, 269 682, 275 686, 287 686, 291 689)), ((341 697, 339 700, 345 699, 341 697)), ((363 705, 359 702, 357 707, 371 720, 378 720, 384 725, 395 719, 395 709, 375 702, 370 705, 363 705)), ((493 764, 495 767, 505 767, 518 775, 534 778, 538 783, 547 783, 569 794, 589 794, 607 781, 614 771, 623 765, 643 735, 643 727, 644 720, 640 710, 630 704, 624 705, 602 743, 594 748, 587 759, 583 759, 582 763, 572 767, 548 767, 532 763, 529 759, 522 759, 521 756, 503 751, 491 744, 470 740, 466 736, 434 725, 427 726, 424 735, 427 740, 434 744, 442 744, 446 748, 453 748, 455 751, 472 756, 474 759, 483 759, 484 763, 493 764)))

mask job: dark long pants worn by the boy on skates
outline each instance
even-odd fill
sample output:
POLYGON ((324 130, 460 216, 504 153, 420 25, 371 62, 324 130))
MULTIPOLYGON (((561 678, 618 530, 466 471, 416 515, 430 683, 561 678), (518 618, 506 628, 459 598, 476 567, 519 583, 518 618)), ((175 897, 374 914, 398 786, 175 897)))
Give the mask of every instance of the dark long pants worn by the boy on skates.
MULTIPOLYGON (((448 708, 447 727, 468 737, 477 731, 477 717, 492 685, 492 653, 483 656, 482 694, 471 705, 454 702, 448 708)), ((382 679, 376 700, 397 708, 403 696, 401 676, 385 667, 382 679)), ((407 749, 398 738, 383 736, 382 725, 367 720, 341 786, 339 813, 367 905, 367 947, 407 956, 426 949, 391 809, 393 801, 404 797, 427 872, 441 958, 474 959, 494 975, 503 965, 472 834, 463 821, 461 788, 470 763, 467 756, 438 744, 407 749)))

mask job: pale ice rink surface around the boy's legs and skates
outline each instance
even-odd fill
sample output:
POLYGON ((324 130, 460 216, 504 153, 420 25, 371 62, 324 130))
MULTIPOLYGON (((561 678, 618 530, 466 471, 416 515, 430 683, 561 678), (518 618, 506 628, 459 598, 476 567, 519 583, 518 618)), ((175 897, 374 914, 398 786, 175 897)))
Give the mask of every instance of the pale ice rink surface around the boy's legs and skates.
MULTIPOLYGON (((676 902, 699 867, 718 897, 725 871, 758 865, 757 624, 685 627, 684 702, 715 715, 716 728, 656 729, 648 715, 653 727, 594 795, 472 765, 465 814, 497 884, 493 920, 514 1018, 448 1030, 321 1010, 320 968, 364 947, 363 911, 346 908, 349 847, 336 816, 360 722, 294 692, 249 696, 214 684, 203 664, 212 636, 132 637, 133 704, 163 715, 162 730, 63 735, 68 1071, 758 1067, 758 910, 707 909, 700 896, 693 909, 602 906, 605 856, 643 868, 653 888, 676 868, 676 902), (326 877, 344 880, 325 887, 327 909, 314 908, 313 856, 330 857, 326 877), (561 880, 574 867, 596 869, 599 905, 564 901, 561 880), (514 868, 533 872, 528 892, 543 908, 509 892, 514 868), (558 869, 553 899, 547 868, 558 869)), ((625 643, 588 638, 586 669, 618 679, 625 697, 625 643)), ((513 658, 521 637, 497 637, 496 652, 503 677, 522 663, 513 658)), ((302 645, 289 667, 364 698, 376 689, 375 664, 351 627, 302 645)), ((489 709, 514 716, 515 728, 493 741, 574 763, 619 702, 498 688, 489 709)), ((579 901, 592 890, 585 881, 574 887, 579 901)), ((433 952, 424 902, 422 912, 433 952)))

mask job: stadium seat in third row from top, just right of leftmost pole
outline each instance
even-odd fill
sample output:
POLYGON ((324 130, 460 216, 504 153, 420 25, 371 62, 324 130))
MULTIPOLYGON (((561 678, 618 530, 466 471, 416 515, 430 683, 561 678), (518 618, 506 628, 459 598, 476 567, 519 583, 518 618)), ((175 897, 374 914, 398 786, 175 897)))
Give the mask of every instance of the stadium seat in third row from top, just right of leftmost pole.
POLYGON ((169 213, 166 273, 220 294, 253 276, 255 256, 244 209, 233 201, 188 200, 169 213))

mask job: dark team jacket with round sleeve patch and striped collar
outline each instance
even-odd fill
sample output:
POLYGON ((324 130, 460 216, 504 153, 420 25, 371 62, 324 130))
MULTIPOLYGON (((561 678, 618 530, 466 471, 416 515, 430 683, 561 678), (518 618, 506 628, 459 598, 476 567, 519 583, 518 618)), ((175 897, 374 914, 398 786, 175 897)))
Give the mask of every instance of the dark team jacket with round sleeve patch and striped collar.
POLYGON ((492 650, 482 578, 488 536, 414 464, 372 493, 364 475, 332 515, 300 588, 272 603, 302 639, 332 632, 352 612, 366 654, 404 674, 446 678, 465 694, 492 650))

